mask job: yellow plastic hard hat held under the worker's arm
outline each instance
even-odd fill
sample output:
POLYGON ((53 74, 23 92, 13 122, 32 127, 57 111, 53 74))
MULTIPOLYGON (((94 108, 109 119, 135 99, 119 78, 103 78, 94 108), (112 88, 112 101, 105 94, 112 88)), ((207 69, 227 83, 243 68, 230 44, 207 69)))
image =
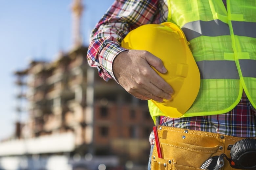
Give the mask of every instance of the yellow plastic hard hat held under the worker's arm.
POLYGON ((127 34, 121 46, 147 50, 163 61, 167 73, 153 68, 174 90, 172 100, 151 100, 165 115, 181 117, 193 104, 200 87, 200 73, 179 26, 165 22, 139 26, 127 34))

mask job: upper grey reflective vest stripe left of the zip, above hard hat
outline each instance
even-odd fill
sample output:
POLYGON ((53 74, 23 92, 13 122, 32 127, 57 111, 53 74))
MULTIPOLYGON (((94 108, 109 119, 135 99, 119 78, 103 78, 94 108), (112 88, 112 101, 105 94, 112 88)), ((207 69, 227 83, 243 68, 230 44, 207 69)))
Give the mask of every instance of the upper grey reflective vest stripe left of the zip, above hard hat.
POLYGON ((187 41, 202 35, 210 37, 230 35, 228 24, 222 22, 221 20, 193 21, 186 23, 181 29, 184 32, 187 41))

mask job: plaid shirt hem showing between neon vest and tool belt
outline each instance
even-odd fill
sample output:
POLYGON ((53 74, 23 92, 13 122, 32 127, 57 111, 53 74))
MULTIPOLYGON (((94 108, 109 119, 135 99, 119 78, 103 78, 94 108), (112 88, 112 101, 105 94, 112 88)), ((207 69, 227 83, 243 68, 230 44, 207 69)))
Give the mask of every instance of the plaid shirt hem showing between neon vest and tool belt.
MULTIPOLYGON (((169 118, 161 116, 160 125, 249 138, 256 136, 255 120, 256 109, 253 108, 243 92, 239 104, 227 113, 185 118, 169 118)), ((149 141, 151 145, 155 143, 153 132, 150 134, 149 141)))

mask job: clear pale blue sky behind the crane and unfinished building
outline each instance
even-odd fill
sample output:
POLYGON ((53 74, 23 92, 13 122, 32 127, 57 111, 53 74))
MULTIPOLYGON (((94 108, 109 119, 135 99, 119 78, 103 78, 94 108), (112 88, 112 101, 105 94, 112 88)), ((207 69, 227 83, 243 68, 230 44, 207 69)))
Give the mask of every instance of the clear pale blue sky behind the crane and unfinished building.
MULTIPOLYGON (((81 30, 89 33, 114 0, 83 0, 81 30)), ((13 72, 32 59, 55 59, 72 45, 72 0, 0 0, 0 140, 14 132, 17 88, 13 72)), ((26 112, 22 119, 26 119, 26 112)))

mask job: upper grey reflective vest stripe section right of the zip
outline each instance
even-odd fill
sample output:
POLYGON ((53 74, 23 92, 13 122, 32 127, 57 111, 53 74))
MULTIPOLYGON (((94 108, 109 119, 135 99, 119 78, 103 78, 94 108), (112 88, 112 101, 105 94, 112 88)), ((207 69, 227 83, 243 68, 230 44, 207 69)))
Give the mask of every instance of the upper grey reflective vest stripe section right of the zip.
POLYGON ((235 35, 256 38, 256 23, 232 21, 235 35))

